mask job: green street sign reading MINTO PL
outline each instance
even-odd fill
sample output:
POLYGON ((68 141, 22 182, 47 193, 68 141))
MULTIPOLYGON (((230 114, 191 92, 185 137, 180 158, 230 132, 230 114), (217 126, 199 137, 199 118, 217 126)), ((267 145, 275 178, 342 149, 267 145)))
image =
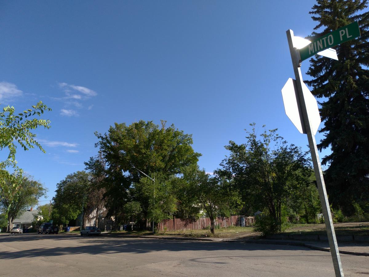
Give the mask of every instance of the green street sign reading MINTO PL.
POLYGON ((325 49, 334 47, 342 42, 352 40, 356 37, 360 37, 359 23, 353 22, 331 33, 323 35, 323 37, 313 40, 310 44, 301 48, 300 56, 301 61, 304 61, 325 49))

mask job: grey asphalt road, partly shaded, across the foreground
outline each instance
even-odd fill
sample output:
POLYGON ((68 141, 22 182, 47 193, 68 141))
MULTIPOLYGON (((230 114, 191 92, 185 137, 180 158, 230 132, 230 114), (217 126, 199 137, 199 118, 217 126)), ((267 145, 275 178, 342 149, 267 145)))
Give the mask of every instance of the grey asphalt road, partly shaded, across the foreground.
MULTIPOLYGON (((341 255, 345 276, 369 257, 341 255)), ((334 276, 330 253, 234 242, 0 235, 0 276, 334 276)))

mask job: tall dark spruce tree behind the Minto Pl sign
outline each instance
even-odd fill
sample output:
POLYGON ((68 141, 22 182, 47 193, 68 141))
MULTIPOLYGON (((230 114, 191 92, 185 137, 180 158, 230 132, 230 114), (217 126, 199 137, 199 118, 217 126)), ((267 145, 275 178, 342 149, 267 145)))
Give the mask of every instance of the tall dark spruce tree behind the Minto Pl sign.
POLYGON ((361 37, 336 47, 338 61, 310 59, 307 82, 321 99, 324 138, 318 149, 331 148, 322 159, 330 202, 353 213, 354 200, 369 197, 369 12, 367 0, 317 0, 310 11, 317 26, 310 38, 320 37, 359 21, 361 37), (366 10, 366 11, 365 11, 366 10))

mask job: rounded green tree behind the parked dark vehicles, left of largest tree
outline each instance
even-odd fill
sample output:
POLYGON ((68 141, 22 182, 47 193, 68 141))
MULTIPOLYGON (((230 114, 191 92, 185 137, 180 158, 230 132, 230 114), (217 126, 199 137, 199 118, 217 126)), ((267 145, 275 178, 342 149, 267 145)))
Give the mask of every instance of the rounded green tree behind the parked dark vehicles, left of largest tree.
MULTIPOLYGON (((85 207, 90 189, 90 175, 86 171, 69 174, 56 184, 56 195, 52 198, 51 218, 55 223, 68 224, 75 220, 85 207)), ((86 211, 86 208, 84 209, 86 211)), ((86 216, 84 212, 84 216, 86 216)), ((85 222, 85 220, 83 220, 85 222)))

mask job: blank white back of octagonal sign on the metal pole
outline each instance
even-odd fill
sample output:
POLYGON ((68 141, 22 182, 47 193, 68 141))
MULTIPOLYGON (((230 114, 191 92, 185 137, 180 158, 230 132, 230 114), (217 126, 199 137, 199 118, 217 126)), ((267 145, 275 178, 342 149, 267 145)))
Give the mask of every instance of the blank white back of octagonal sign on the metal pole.
MULTIPOLYGON (((304 83, 302 87, 307 114, 310 121, 311 132, 315 136, 320 124, 318 103, 304 83)), ((300 131, 301 134, 306 134, 304 117, 300 107, 299 93, 297 92, 296 80, 292 78, 288 79, 288 81, 282 88, 282 97, 284 103, 284 110, 286 111, 287 116, 292 121, 294 126, 296 126, 297 130, 300 131)))

